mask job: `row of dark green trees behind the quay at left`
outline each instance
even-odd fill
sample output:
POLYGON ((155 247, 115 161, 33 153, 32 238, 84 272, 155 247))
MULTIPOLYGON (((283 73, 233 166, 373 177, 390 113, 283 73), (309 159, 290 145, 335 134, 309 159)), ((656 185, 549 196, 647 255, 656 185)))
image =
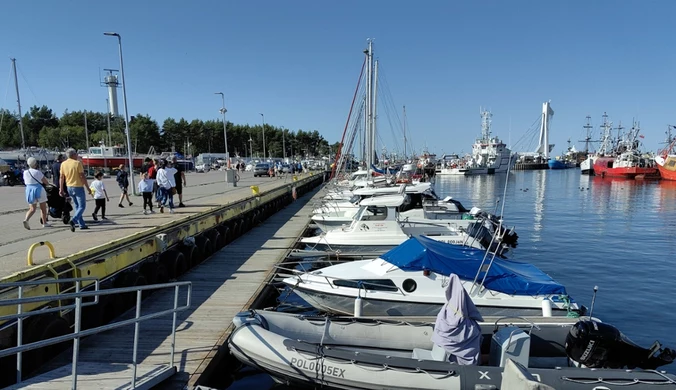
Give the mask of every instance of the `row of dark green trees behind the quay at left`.
MULTIPOLYGON (((18 115, 0 110, 0 149, 21 147, 18 115)), ((23 115, 26 146, 46 149, 83 150, 89 146, 126 145, 124 118, 105 112, 66 111, 57 117, 47 106, 33 106, 23 115), (110 132, 108 129, 110 128, 110 132), (110 139, 109 139, 110 138, 110 139)), ((263 126, 226 124, 230 156, 263 157, 263 126)), ((167 118, 158 124, 149 115, 137 114, 129 120, 132 150, 139 154, 177 151, 183 154, 224 153, 223 122, 185 118, 167 118)), ((336 143, 337 144, 337 143, 336 143)), ((265 124, 265 149, 268 156, 319 157, 335 153, 336 144, 329 145, 317 130, 291 131, 265 124)))

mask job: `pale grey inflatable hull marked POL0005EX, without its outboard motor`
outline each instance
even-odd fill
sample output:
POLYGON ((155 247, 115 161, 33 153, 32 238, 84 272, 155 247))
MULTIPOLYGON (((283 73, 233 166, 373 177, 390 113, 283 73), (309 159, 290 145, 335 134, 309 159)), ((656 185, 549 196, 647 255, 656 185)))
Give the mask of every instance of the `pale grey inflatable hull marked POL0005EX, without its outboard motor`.
MULTIPOLYGON (((588 390, 601 383, 599 378, 640 389, 676 383, 673 376, 656 371, 568 367, 564 345, 575 322, 537 323, 539 327, 532 330, 528 371, 541 383, 557 390, 588 390)), ((501 367, 414 357, 415 349, 432 348, 433 324, 429 322, 245 312, 235 318, 235 325, 228 339, 235 358, 284 383, 340 389, 508 389, 502 382, 501 367)), ((513 325, 522 329, 531 326, 521 320, 514 320, 513 325)), ((488 321, 480 326, 482 355, 488 360, 491 336, 497 328, 488 321)))

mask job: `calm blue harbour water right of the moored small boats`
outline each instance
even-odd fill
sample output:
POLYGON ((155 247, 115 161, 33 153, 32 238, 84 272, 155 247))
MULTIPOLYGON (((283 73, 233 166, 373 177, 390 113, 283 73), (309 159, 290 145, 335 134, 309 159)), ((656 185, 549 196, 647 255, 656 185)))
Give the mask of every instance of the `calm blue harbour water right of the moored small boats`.
MULTIPOLYGON (((595 317, 646 348, 655 340, 676 348, 676 182, 589 177, 568 169, 439 176, 435 190, 467 208, 497 210, 519 234, 511 258, 538 266, 578 303, 589 307, 598 286, 595 317)), ((674 364, 662 369, 676 373, 674 364)), ((231 388, 251 382, 274 387, 259 375, 231 388)))

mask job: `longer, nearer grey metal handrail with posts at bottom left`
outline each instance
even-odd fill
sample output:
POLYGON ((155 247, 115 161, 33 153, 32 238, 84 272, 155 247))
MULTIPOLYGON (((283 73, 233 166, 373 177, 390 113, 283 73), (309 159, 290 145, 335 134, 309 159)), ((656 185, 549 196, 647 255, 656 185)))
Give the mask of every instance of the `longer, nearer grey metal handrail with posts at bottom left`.
MULTIPOLYGON (((174 360, 175 360, 175 349, 176 349, 176 321, 177 321, 177 313, 182 312, 190 308, 191 300, 192 300, 192 282, 173 282, 173 283, 162 283, 162 284, 154 284, 154 285, 147 285, 147 286, 133 286, 133 287, 122 287, 122 288, 112 288, 112 289, 105 289, 105 290, 97 290, 97 291, 79 291, 79 281, 76 281, 76 292, 75 293, 68 293, 68 294, 59 294, 59 295, 50 295, 50 296, 40 296, 40 297, 27 297, 27 298, 21 298, 21 299, 8 299, 8 300, 1 300, 0 301, 0 306, 8 306, 8 305, 19 305, 21 307, 22 304, 25 303, 32 303, 32 302, 41 302, 41 301, 50 301, 50 300, 56 300, 56 299, 74 299, 75 304, 74 304, 74 309, 75 309, 75 321, 74 321, 74 326, 75 329, 73 333, 63 335, 63 336, 57 336, 57 337, 52 337, 50 339, 46 340, 40 340, 36 341, 33 343, 29 344, 23 344, 23 345, 17 345, 16 347, 12 348, 7 348, 0 350, 0 358, 4 356, 10 356, 17 354, 19 355, 22 352, 25 351, 30 351, 33 349, 37 348, 42 348, 46 347, 49 345, 53 344, 59 344, 65 341, 73 340, 73 362, 72 362, 72 386, 71 388, 73 390, 77 389, 77 363, 78 363, 78 357, 80 353, 80 339, 82 337, 87 337, 91 336, 97 333, 101 332, 106 332, 112 329, 117 329, 126 325, 131 325, 134 324, 134 348, 133 348, 133 358, 132 358, 132 365, 133 365, 133 377, 132 377, 132 382, 131 382, 131 388, 136 388, 136 371, 137 371, 137 366, 138 366, 138 338, 139 338, 139 331, 140 331, 140 323, 146 320, 150 320, 153 318, 158 318, 167 314, 173 314, 173 319, 172 319, 172 328, 171 328, 171 357, 170 357, 170 366, 174 366, 174 360), (178 295, 180 292, 180 288, 182 286, 186 286, 188 291, 187 291, 187 298, 186 298, 186 304, 183 306, 178 306, 178 295), (159 290, 163 288, 169 288, 173 287, 174 288, 174 307, 172 309, 167 309, 163 311, 159 311, 156 313, 152 314, 146 314, 144 316, 141 316, 141 298, 142 298, 142 292, 143 291, 148 291, 148 290, 159 290), (136 315, 134 318, 124 320, 124 321, 118 321, 114 322, 112 324, 106 324, 102 325, 96 328, 91 328, 87 330, 81 330, 80 325, 81 325, 81 320, 82 320, 82 307, 85 306, 82 303, 83 298, 88 298, 88 297, 94 297, 96 301, 98 301, 98 297, 100 295, 113 295, 113 294, 121 294, 121 293, 129 293, 129 292, 136 292, 136 315)), ((97 287, 98 287, 98 281, 97 281, 97 287)), ((42 314, 45 313, 45 311, 39 311, 39 312, 29 312, 30 314, 42 314)), ((29 314, 26 313, 26 314, 29 314)), ((17 313, 16 318, 23 318, 25 315, 23 313, 17 313)), ((19 360, 19 359, 17 359, 19 360)), ((17 383, 21 382, 21 366, 18 365, 17 362, 17 383)))

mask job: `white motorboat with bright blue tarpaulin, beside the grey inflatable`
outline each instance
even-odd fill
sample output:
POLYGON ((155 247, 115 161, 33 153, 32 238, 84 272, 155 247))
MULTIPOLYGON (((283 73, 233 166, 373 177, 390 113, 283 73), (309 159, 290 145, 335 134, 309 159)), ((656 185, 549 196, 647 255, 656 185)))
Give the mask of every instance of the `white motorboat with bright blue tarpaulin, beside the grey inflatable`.
POLYGON ((537 267, 485 251, 411 237, 375 260, 300 272, 283 282, 318 310, 367 316, 430 316, 446 303, 448 276, 460 277, 483 315, 579 315, 563 285, 537 267), (487 271, 486 271, 487 270, 487 271))

